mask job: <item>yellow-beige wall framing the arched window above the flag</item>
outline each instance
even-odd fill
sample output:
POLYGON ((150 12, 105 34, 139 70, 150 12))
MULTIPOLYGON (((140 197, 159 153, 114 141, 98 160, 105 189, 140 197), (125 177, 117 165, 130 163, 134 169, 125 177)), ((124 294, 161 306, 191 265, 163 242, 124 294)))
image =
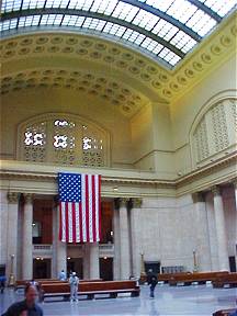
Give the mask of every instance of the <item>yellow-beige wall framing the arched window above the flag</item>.
MULTIPOLYGON (((109 131, 112 144, 112 166, 125 167, 132 161, 129 122, 105 102, 84 97, 74 90, 29 89, 2 98, 1 154, 14 159, 18 125, 35 115, 59 112, 80 115, 109 131), (8 117, 8 120, 4 120, 8 117)), ((131 168, 131 166, 128 166, 131 168)))

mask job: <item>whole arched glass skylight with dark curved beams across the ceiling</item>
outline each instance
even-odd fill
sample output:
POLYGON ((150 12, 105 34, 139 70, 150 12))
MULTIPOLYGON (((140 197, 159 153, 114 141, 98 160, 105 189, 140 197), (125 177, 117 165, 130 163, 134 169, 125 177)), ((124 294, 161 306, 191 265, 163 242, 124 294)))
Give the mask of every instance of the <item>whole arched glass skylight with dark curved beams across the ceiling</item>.
MULTIPOLYGON (((102 33, 174 66, 237 0, 2 0, 0 30, 60 26, 102 33)), ((35 30, 35 29, 34 29, 35 30)))

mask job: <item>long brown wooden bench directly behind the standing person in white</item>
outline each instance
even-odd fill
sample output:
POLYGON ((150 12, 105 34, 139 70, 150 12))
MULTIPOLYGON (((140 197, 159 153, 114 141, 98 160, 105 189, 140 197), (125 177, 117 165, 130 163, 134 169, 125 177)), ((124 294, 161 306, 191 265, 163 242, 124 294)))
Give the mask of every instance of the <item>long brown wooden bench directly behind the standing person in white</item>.
MULTIPOLYGON (((43 284, 41 287, 41 300, 46 297, 61 296, 68 300, 70 296, 69 283, 43 284)), ((131 293, 132 296, 139 296, 139 286, 136 281, 102 281, 102 282, 82 282, 78 287, 78 295, 86 295, 92 300, 97 294, 109 294, 111 298, 117 297, 120 293, 131 293)))

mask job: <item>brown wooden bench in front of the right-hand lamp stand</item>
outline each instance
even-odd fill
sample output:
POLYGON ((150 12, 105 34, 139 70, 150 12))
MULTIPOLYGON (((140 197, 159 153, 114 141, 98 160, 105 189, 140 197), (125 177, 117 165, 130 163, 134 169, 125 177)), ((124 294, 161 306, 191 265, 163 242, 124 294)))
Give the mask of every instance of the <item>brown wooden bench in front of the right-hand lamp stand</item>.
POLYGON ((227 274, 228 274, 228 271, 194 272, 194 273, 188 273, 185 275, 173 274, 169 280, 169 285, 177 285, 178 283, 190 285, 193 282, 196 282, 198 284, 204 284, 207 281, 213 282, 219 275, 227 275, 227 274))

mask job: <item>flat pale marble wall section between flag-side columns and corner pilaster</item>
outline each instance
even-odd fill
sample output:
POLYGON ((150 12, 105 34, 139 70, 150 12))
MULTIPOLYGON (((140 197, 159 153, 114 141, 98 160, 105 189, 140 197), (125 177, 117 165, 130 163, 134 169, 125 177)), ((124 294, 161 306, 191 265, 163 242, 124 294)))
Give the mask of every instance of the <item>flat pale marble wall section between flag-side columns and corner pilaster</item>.
MULTIPOLYGON (((145 261, 160 261, 161 267, 184 266, 193 270, 195 218, 191 195, 180 198, 144 199, 136 218, 136 252, 144 252, 145 261)), ((139 273, 139 256, 135 274, 139 273)))

